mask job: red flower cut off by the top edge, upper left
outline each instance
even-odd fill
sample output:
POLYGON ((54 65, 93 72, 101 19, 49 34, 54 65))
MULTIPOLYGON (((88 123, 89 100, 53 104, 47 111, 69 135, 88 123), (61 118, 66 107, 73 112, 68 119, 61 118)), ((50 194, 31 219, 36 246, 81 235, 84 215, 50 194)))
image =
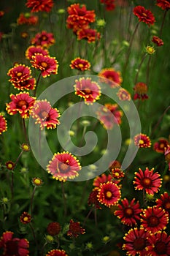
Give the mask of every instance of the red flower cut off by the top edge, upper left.
POLYGON ((53 0, 27 0, 26 7, 32 8, 31 12, 50 12, 53 0))

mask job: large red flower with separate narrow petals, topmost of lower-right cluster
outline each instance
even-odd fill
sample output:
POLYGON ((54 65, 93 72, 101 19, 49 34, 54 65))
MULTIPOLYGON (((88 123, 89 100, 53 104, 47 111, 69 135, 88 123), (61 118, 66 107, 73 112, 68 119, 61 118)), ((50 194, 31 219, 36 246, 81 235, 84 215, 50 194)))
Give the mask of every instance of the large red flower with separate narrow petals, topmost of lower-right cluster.
POLYGON ((154 195, 161 188, 162 178, 160 178, 160 174, 158 172, 153 173, 154 168, 151 170, 146 167, 143 171, 139 168, 139 173, 135 172, 135 177, 133 184, 135 185, 135 189, 142 190, 149 195, 154 195))

